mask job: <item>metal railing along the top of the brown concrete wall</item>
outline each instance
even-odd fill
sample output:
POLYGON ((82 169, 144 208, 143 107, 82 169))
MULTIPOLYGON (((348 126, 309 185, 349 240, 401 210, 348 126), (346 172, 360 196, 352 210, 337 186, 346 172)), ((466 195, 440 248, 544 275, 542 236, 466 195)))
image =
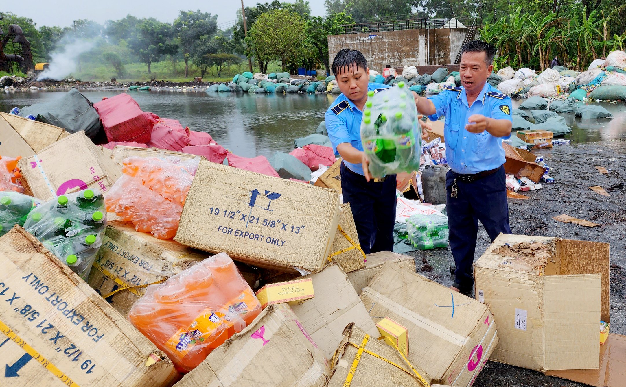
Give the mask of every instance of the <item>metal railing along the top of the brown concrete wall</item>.
POLYGON ((382 33, 386 31, 403 31, 405 29, 435 29, 435 28, 468 28, 472 23, 479 23, 480 18, 460 19, 406 19, 389 21, 372 21, 359 24, 344 24, 343 34, 382 33))

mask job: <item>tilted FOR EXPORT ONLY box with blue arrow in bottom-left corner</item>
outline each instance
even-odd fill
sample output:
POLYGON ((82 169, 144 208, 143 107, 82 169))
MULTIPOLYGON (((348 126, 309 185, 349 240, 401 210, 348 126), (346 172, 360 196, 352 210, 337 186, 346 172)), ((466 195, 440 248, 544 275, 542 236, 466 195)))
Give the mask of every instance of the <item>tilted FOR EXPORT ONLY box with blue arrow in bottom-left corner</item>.
POLYGON ((178 378, 164 353, 19 226, 0 238, 0 264, 0 293, 11 300, 0 304, 0 385, 167 387, 178 378))

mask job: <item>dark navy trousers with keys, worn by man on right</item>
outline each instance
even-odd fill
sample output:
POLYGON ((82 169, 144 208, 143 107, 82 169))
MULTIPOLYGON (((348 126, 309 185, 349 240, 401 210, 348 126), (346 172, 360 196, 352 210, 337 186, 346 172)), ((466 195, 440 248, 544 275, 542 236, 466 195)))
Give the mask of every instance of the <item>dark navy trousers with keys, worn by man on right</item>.
POLYGON ((454 173, 446 175, 446 211, 450 248, 454 256, 455 282, 463 289, 474 285, 471 266, 474 263, 478 221, 485 226, 491 242, 500 234, 510 234, 506 201, 505 168, 484 178, 466 183, 456 179, 457 197, 451 197, 454 173))

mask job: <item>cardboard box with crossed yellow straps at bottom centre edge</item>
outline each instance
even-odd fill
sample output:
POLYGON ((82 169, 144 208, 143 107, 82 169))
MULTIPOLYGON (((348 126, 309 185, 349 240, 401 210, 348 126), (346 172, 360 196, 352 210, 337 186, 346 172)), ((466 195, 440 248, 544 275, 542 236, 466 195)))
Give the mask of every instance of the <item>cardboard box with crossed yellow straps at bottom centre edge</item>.
POLYGON ((419 369, 417 364, 407 363, 406 358, 396 349, 378 341, 376 337, 367 337, 367 333, 354 324, 346 326, 344 333, 337 354, 331 360, 332 377, 328 387, 344 387, 347 378, 350 378, 349 385, 354 387, 428 385, 424 382, 429 383, 431 377, 419 369), (360 346, 365 351, 360 353, 360 346))

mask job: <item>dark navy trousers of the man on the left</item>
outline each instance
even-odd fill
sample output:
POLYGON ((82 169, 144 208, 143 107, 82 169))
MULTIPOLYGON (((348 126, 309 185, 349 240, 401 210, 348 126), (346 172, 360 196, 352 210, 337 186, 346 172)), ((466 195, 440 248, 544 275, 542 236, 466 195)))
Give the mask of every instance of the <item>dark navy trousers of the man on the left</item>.
POLYGON ((350 203, 359 243, 366 254, 393 251, 396 224, 396 175, 375 183, 341 163, 341 191, 350 203))

